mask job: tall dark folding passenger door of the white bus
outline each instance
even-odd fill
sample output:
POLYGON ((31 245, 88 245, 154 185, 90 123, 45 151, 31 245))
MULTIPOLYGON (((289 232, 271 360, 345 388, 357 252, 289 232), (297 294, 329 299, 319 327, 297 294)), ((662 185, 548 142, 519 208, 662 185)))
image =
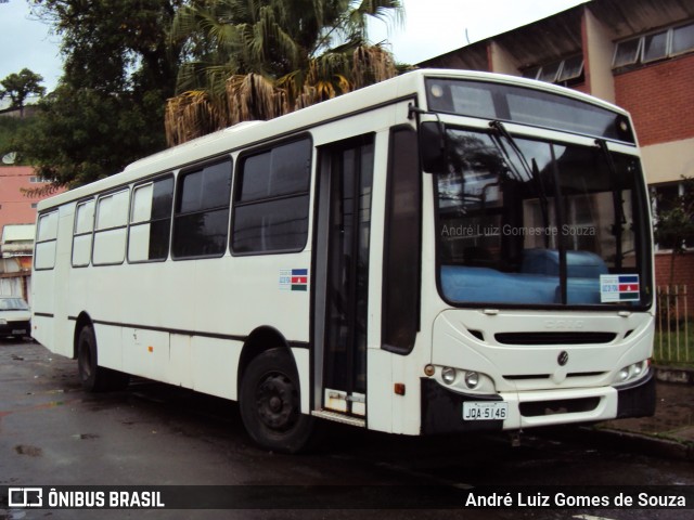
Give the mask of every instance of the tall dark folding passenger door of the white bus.
POLYGON ((319 148, 313 403, 365 417, 374 138, 319 148))

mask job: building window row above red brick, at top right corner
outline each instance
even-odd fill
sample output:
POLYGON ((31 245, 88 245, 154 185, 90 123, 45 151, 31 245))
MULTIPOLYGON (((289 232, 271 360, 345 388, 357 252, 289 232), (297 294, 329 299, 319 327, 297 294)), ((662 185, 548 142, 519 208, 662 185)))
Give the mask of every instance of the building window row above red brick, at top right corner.
POLYGON ((694 24, 670 27, 620 41, 615 47, 613 68, 647 64, 694 51, 694 24))

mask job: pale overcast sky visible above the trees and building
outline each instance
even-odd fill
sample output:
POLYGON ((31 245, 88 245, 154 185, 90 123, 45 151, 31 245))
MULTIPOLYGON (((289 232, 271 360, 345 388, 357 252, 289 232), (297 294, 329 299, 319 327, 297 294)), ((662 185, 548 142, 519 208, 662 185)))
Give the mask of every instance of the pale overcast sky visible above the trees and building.
MULTIPOLYGON (((372 41, 387 39, 396 60, 414 64, 467 43, 527 25, 586 0, 403 0, 406 23, 388 32, 370 28, 372 41)), ((60 38, 29 14, 26 0, 0 0, 0 79, 23 68, 55 88, 62 74, 60 38)))

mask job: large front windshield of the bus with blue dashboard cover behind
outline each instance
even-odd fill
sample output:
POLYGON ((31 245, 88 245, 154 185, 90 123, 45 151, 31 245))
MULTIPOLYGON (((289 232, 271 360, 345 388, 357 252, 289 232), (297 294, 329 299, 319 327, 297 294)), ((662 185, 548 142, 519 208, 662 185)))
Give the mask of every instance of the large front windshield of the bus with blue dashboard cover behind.
POLYGON ((639 159, 593 146, 448 128, 437 176, 438 276, 453 304, 651 304, 639 159))

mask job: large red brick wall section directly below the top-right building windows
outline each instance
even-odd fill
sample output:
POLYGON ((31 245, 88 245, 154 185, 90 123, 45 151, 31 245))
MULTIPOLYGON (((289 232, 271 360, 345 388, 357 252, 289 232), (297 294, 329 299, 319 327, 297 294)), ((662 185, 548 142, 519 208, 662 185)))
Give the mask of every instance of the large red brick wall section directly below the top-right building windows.
POLYGON ((694 54, 615 76, 617 105, 631 113, 642 146, 694 138, 694 54))

